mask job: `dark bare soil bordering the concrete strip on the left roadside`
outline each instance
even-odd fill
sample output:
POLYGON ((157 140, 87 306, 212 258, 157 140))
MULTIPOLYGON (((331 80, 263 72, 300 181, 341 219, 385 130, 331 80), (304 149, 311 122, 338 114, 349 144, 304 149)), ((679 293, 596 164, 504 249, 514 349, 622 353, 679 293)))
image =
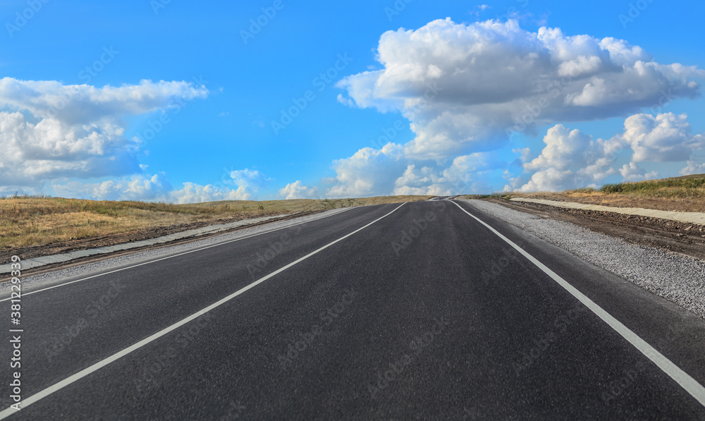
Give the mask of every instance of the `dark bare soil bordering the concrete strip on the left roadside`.
MULTIPOLYGON (((159 245, 145 246, 142 248, 125 250, 125 252, 133 252, 135 250, 145 250, 147 248, 159 248, 164 245, 188 243, 189 241, 200 240, 202 238, 208 238, 208 237, 220 235, 220 234, 226 233, 226 232, 238 231, 240 229, 249 228, 251 226, 269 224, 270 222, 274 222, 274 221, 286 221, 287 219, 293 219, 293 218, 298 218, 300 216, 317 214, 319 212, 323 212, 323 211, 298 212, 295 214, 283 216, 281 218, 271 219, 269 221, 260 222, 258 224, 250 224, 250 225, 246 225, 246 226, 240 226, 238 228, 233 228, 233 229, 230 229, 227 231, 221 231, 221 232, 215 233, 215 234, 207 234, 204 236, 197 236, 197 237, 192 237, 192 238, 182 238, 180 240, 174 240, 169 243, 162 243, 159 245)), ((259 217, 272 216, 272 215, 275 215, 275 214, 262 214, 259 217)), ((232 219, 217 219, 214 221, 201 221, 201 222, 194 222, 192 224, 181 224, 181 225, 175 225, 175 226, 165 226, 165 227, 161 227, 161 228, 142 229, 142 230, 138 230, 138 231, 131 231, 128 233, 120 233, 120 234, 115 234, 112 236, 106 236, 106 237, 101 237, 101 238, 82 238, 82 239, 78 239, 78 240, 62 241, 61 243, 51 243, 51 244, 39 245, 39 246, 35 246, 35 247, 4 250, 4 251, 0 252, 0 264, 5 264, 5 263, 10 262, 10 259, 13 255, 20 256, 20 258, 22 258, 23 260, 31 259, 32 257, 59 255, 61 253, 72 252, 72 251, 76 251, 76 250, 88 250, 90 248, 98 248, 98 247, 102 247, 104 245, 117 245, 117 244, 124 244, 124 243, 133 243, 135 241, 140 241, 140 240, 149 240, 149 238, 168 236, 169 234, 172 234, 172 233, 187 231, 187 230, 194 229, 194 228, 202 228, 204 226, 219 225, 219 224, 228 224, 229 222, 235 222, 235 221, 241 221, 241 220, 242 220, 241 218, 232 218, 232 219)), ((81 259, 81 260, 72 260, 71 263, 73 264, 75 262, 83 262, 86 260, 95 260, 95 257, 86 257, 85 259, 81 259)), ((53 267, 54 265, 51 265, 51 266, 53 267)), ((46 268, 46 267, 42 267, 42 269, 44 269, 44 268, 46 268)))

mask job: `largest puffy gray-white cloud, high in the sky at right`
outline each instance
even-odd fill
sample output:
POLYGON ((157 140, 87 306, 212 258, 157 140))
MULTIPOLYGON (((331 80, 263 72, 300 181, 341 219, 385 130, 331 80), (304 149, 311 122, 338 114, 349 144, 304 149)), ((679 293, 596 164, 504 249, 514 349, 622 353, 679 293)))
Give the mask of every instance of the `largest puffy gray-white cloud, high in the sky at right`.
POLYGON ((627 116, 643 107, 699 95, 694 66, 661 64, 622 39, 529 32, 515 20, 434 20, 385 32, 384 68, 338 83, 341 102, 400 111, 416 137, 413 159, 496 150, 508 133, 537 126, 627 116))

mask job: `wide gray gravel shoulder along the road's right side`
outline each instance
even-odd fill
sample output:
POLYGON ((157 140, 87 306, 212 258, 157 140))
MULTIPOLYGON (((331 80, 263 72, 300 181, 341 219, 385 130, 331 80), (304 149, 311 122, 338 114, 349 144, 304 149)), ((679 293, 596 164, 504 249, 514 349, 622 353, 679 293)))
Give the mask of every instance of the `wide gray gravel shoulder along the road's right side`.
POLYGON ((534 234, 705 319, 705 261, 543 219, 496 203, 463 200, 479 211, 534 234))

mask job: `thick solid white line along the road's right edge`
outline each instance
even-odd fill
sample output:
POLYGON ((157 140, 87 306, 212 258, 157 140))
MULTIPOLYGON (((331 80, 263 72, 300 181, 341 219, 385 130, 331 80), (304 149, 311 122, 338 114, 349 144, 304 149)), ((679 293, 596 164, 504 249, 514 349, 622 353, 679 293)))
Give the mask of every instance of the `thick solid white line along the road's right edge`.
POLYGON ((705 406, 705 387, 703 387, 701 384, 699 384, 695 379, 690 377, 687 372, 684 372, 683 370, 678 367, 678 365, 673 364, 671 360, 668 358, 664 357, 663 354, 659 353, 656 348, 653 346, 649 345, 644 339, 640 338, 637 334, 635 334, 631 329, 626 327, 622 322, 620 322, 618 319, 615 319, 612 315, 610 315, 608 312, 603 310, 602 307, 594 303, 593 300, 590 300, 587 298, 586 295, 578 291, 574 286, 570 285, 565 279, 561 278, 556 274, 556 272, 552 271, 551 269, 548 269, 546 265, 543 263, 539 262, 534 256, 529 255, 528 252, 526 252, 524 249, 520 248, 518 245, 516 245, 512 240, 509 238, 506 238, 503 236, 499 231, 496 229, 492 228, 488 224, 484 223, 484 221, 480 220, 477 216, 474 216, 470 212, 467 212, 467 210, 463 209, 458 203, 455 203, 456 206, 460 207, 462 212, 465 212, 466 214, 472 216, 475 220, 477 220, 480 224, 486 226, 490 231, 496 234, 499 238, 504 240, 506 243, 511 245, 517 252, 520 252, 524 257, 526 257, 530 262, 535 264, 539 269, 544 271, 548 276, 551 276, 553 281, 556 281, 558 285, 562 286, 565 288, 566 291, 572 294, 575 298, 577 298, 581 303, 583 303, 586 307, 588 307, 592 312, 594 312, 598 317, 603 319, 604 322, 606 322, 612 329, 614 329, 618 334, 622 335, 623 338, 625 338, 629 343, 631 343, 639 352, 642 354, 646 355, 646 358, 649 358, 651 362, 654 362, 660 368, 668 374, 668 376, 675 380, 676 383, 678 383, 685 391, 690 393, 690 396, 694 397, 701 405, 705 406))

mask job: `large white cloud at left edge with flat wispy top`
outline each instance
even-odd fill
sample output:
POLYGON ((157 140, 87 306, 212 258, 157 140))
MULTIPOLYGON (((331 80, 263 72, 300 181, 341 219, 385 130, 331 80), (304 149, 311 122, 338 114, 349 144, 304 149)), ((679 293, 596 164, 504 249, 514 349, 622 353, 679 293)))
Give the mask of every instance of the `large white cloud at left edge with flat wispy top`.
POLYGON ((140 172, 140 140, 125 138, 124 117, 203 98, 186 82, 121 87, 0 79, 0 180, 37 187, 55 178, 96 178, 140 172))

